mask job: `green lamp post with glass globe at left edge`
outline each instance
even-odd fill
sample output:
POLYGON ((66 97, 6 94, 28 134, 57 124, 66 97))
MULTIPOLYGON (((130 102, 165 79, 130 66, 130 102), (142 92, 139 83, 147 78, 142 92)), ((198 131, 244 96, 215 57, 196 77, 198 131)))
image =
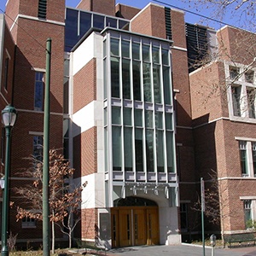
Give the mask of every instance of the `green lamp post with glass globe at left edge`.
POLYGON ((4 189, 3 189, 3 210, 2 210, 2 256, 9 255, 7 244, 8 236, 8 217, 9 217, 9 159, 10 159, 10 134, 11 129, 15 125, 16 109, 10 105, 6 106, 2 111, 2 121, 5 128, 6 148, 4 163, 4 189))

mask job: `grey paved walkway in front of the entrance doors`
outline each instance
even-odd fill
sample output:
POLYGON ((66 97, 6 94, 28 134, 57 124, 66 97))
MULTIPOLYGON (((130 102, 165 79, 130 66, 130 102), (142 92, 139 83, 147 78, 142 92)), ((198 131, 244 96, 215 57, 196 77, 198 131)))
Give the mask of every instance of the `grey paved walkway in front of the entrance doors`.
MULTIPOLYGON (((112 249, 107 252, 109 256, 202 256, 201 246, 188 244, 174 246, 142 246, 123 247, 112 249)), ((212 247, 206 247, 205 256, 212 255, 212 247)), ((214 250, 214 256, 256 256, 256 247, 218 248, 214 250)))

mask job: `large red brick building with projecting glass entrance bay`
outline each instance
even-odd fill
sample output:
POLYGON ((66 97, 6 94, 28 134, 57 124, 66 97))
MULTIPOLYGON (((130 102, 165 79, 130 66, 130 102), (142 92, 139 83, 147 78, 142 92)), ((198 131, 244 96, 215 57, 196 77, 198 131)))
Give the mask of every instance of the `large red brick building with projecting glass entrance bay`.
MULTIPOLYGON (((208 186, 212 173, 225 218, 207 231, 247 231, 256 196, 255 58, 234 38, 255 45, 253 33, 215 32, 185 23, 178 9, 113 0, 82 0, 76 9, 64 0, 9 0, 0 18, 0 56, 10 67, 2 66, 0 103, 19 112, 11 186, 26 183, 17 172, 42 149, 52 38, 50 148, 63 148, 73 183, 88 183, 75 237, 106 247, 186 241, 201 232, 192 208, 201 177, 208 186)), ((15 209, 9 218, 18 242, 42 241, 40 222, 15 222, 15 209)))

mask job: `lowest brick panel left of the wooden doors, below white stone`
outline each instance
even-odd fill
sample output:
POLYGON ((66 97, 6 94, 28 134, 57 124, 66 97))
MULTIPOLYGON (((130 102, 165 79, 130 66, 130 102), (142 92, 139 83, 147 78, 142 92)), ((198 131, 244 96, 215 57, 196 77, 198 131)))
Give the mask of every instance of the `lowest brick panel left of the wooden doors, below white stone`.
POLYGON ((81 212, 82 239, 95 239, 98 235, 98 210, 82 209, 81 212))

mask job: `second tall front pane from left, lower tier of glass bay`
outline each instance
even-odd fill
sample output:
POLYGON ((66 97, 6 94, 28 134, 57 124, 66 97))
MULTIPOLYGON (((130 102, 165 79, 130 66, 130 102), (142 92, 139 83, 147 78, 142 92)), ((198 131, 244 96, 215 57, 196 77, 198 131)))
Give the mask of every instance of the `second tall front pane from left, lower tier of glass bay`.
POLYGON ((132 171, 132 128, 125 127, 125 171, 132 171))

